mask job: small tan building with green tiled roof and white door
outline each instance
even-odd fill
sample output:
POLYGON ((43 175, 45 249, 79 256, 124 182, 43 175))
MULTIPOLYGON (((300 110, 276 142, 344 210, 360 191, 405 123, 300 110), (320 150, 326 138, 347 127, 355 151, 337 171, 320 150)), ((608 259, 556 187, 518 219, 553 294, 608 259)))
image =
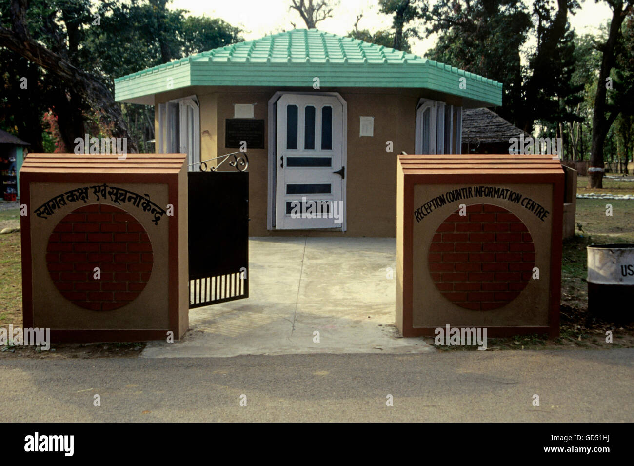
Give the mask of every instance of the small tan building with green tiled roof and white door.
POLYGON ((501 105, 501 92, 491 79, 316 29, 115 80, 115 100, 154 105, 157 152, 187 153, 198 170, 246 148, 251 236, 394 236, 396 156, 460 153, 463 109, 501 105), (306 201, 324 202, 325 214, 314 218, 306 201))

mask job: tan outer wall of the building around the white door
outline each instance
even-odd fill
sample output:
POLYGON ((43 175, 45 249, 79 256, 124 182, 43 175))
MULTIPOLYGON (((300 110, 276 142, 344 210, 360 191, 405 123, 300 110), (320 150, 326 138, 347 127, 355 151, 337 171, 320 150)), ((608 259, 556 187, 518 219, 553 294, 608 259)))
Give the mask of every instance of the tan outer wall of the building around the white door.
MULTIPOLYGON (((249 149, 250 236, 395 236, 396 156, 414 153, 416 107, 420 98, 460 106, 453 96, 421 89, 270 87, 190 87, 157 94, 155 104, 195 94, 200 103, 200 159, 235 148, 224 147, 225 120, 233 118, 233 104, 255 103, 254 118, 265 120, 264 149, 249 149), (338 92, 347 104, 347 231, 266 229, 268 205, 268 101, 276 91, 338 92), (359 116, 374 117, 374 136, 359 136, 359 116), (387 141, 393 152, 385 151, 387 141)), ((155 105, 158 133, 158 105, 155 105)), ((157 148, 159 145, 157 144, 157 148)))

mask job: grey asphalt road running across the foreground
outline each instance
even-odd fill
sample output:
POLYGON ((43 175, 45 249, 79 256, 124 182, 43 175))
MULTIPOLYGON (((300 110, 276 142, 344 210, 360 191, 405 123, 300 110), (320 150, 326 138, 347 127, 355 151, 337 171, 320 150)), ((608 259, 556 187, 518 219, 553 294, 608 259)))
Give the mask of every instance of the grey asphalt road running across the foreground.
POLYGON ((634 349, 3 359, 0 418, 632 422, 633 366, 634 349))

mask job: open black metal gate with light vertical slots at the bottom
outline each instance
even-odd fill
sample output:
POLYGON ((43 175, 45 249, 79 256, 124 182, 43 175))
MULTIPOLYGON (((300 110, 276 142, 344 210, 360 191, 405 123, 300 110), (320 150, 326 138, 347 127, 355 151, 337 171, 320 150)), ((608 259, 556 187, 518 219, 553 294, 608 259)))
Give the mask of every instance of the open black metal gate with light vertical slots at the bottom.
POLYGON ((249 297, 249 172, 188 173, 190 308, 249 297))

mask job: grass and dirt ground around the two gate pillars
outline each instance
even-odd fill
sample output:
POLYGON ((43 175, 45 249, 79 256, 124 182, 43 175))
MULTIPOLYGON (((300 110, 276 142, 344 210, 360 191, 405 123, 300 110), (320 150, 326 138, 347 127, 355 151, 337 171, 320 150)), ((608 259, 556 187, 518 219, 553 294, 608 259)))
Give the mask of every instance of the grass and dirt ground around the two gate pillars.
MULTIPOLYGON (((630 177, 633 178, 633 177, 630 177)), ((604 189, 587 188, 587 177, 578 179, 578 193, 634 194, 634 181, 604 179, 604 189)), ((19 226, 17 204, 0 202, 0 230, 19 226)), ((544 335, 488 339, 488 351, 522 349, 611 349, 634 347, 634 323, 614 325, 588 313, 586 247, 593 243, 634 243, 634 200, 578 199, 576 236, 564 240, 560 336, 544 335), (611 204, 612 215, 606 215, 611 204), (612 343, 605 332, 612 332, 612 343)), ((22 326, 20 233, 0 235, 0 327, 22 326)), ((433 338, 425 339, 434 344, 433 338)), ((0 347, 0 358, 107 358, 136 357, 145 343, 53 344, 50 351, 29 346, 0 347)), ((471 347, 438 347, 443 351, 474 351, 471 347)))

